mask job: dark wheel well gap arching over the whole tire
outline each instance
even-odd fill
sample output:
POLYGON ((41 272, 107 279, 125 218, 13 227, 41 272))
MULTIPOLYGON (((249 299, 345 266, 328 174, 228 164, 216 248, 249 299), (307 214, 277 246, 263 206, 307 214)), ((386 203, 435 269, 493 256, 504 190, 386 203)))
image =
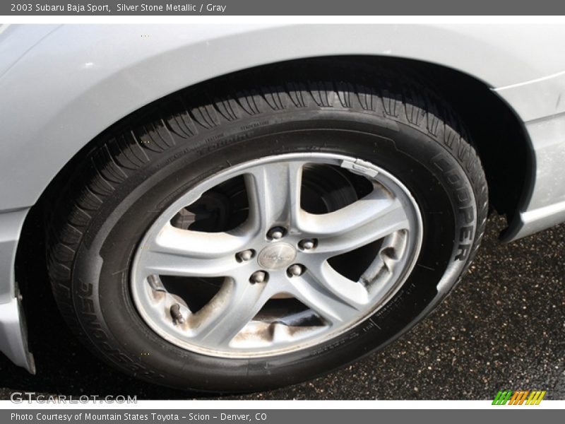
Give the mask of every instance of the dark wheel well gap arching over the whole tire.
MULTIPOLYGON (((374 66, 402 69, 426 83, 429 88, 444 98, 465 122, 487 175, 491 206, 498 213, 506 214, 509 218, 518 212, 521 196, 528 189, 528 170, 532 169, 533 157, 529 151, 528 134, 511 107, 506 105, 504 100, 499 98, 486 83, 460 71, 423 61, 392 57, 318 57, 237 71, 198 83, 187 89, 198 93, 198 88, 201 86, 209 87, 218 83, 218 86, 225 87, 231 83, 244 83, 259 75, 276 72, 282 65, 285 66, 285 69, 299 69, 300 75, 307 78, 309 71, 327 69, 328 63, 335 61, 339 61, 341 66, 347 66, 352 71, 374 66)), ((109 132, 119 131, 131 119, 139 119, 144 114, 150 114, 160 100, 162 99, 155 100, 120 119, 81 148, 49 183, 37 204, 32 208, 32 210, 40 209, 42 212, 30 213, 30 219, 26 219, 24 223, 24 230, 26 225, 30 225, 28 221, 32 220, 32 217, 35 216, 37 219, 37 216, 44 216, 44 212, 47 212, 52 202, 57 201, 59 187, 66 182, 70 173, 89 151, 93 150, 109 132)), ((22 235, 25 235, 25 231, 22 232, 22 235)))

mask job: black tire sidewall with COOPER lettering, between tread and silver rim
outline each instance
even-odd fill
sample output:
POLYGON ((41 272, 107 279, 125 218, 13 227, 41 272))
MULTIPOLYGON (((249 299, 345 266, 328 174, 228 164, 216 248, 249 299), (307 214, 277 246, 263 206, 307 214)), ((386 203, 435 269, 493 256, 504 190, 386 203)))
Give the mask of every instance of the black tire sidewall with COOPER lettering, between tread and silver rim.
POLYGON ((314 110, 247 119, 179 143, 119 187, 85 233, 73 266, 72 292, 84 333, 107 360, 137 377, 208 391, 300 382, 386 346, 444 297, 475 251, 477 196, 458 152, 444 139, 441 131, 429 134, 386 117, 314 110), (398 293, 354 329, 268 358, 215 358, 157 336, 139 317, 129 290, 131 260, 151 223, 180 194, 226 167, 301 151, 367 160, 398 178, 415 197, 424 222, 422 249, 398 293))

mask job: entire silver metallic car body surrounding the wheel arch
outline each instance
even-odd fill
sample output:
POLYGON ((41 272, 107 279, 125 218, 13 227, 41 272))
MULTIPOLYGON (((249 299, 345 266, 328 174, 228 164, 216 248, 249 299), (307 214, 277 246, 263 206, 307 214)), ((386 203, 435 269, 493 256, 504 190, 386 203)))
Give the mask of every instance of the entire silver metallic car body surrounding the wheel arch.
POLYGON ((0 351, 35 371, 14 262, 29 209, 108 126, 215 76, 343 54, 417 59, 499 95, 530 137, 505 241, 565 221, 562 25, 0 25, 0 351))

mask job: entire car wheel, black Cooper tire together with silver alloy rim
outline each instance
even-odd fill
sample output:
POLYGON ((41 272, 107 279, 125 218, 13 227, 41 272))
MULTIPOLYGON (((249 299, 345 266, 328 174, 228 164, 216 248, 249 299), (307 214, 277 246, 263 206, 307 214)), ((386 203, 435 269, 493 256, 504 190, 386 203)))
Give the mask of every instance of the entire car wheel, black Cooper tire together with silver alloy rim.
POLYGON ((409 329, 486 215, 463 124, 416 78, 281 67, 174 93, 93 141, 52 213, 49 275, 71 327, 130 375, 268 389, 409 329))

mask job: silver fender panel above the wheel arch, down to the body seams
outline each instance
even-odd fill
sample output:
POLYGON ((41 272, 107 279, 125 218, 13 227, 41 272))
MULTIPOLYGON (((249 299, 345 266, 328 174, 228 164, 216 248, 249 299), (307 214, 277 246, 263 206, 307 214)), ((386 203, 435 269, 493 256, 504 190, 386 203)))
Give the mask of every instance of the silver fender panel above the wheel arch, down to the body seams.
POLYGON ((0 35, 3 53, 16 50, 0 55, 0 169, 10 175, 0 179, 0 211, 35 204, 61 167, 117 120, 215 76, 304 57, 384 55, 500 88, 565 69, 562 33, 557 25, 542 33, 536 25, 10 26, 0 35), (30 33, 35 44, 13 41, 30 33))

